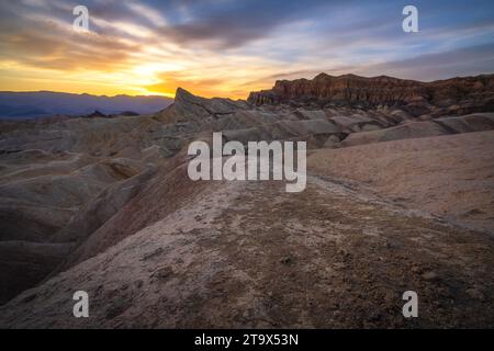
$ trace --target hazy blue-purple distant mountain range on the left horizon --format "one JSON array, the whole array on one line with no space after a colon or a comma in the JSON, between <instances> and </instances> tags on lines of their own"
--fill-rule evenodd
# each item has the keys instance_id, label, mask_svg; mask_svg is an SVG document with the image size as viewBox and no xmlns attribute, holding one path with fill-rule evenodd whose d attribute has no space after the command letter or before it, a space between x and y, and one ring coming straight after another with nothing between
<instances>
[{"instance_id":1,"label":"hazy blue-purple distant mountain range on the left horizon","mask_svg":"<svg viewBox=\"0 0 494 351\"><path fill-rule=\"evenodd\" d=\"M53 115L88 115L134 112L154 113L173 102L165 97L97 97L52 91L0 92L0 118L35 118Z\"/></svg>"}]
</instances>

